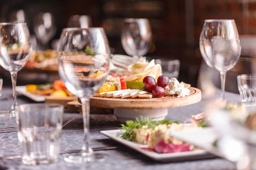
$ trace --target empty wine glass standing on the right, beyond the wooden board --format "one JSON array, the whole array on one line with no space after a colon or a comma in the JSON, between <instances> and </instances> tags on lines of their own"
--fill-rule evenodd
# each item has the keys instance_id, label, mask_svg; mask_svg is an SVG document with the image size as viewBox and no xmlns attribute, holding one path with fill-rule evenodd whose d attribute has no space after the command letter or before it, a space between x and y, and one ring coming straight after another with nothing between
<instances>
[{"instance_id":1,"label":"empty wine glass standing on the right, beyond the wooden board","mask_svg":"<svg viewBox=\"0 0 256 170\"><path fill-rule=\"evenodd\" d=\"M224 100L226 72L232 69L241 54L234 20L205 20L200 35L200 51L210 67L220 72L221 100Z\"/></svg>"}]
</instances>

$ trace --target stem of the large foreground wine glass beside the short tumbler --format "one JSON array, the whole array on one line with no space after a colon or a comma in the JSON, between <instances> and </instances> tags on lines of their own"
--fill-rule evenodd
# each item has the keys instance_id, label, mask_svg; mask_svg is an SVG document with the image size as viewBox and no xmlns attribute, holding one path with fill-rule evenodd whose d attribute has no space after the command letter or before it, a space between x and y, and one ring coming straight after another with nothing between
<instances>
[{"instance_id":1,"label":"stem of the large foreground wine glass beside the short tumbler","mask_svg":"<svg viewBox=\"0 0 256 170\"><path fill-rule=\"evenodd\" d=\"M82 156L87 156L91 153L91 148L89 146L89 136L90 136L90 98L82 97L82 113L83 113L83 122L84 122L84 144L82 147Z\"/></svg>"}]
</instances>

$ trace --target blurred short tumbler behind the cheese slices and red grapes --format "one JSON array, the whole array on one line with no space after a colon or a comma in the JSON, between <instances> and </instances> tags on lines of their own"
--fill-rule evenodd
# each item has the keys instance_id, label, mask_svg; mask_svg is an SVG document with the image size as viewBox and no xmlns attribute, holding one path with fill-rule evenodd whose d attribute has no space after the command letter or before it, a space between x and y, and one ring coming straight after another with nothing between
<instances>
[{"instance_id":1,"label":"blurred short tumbler behind the cheese slices and red grapes","mask_svg":"<svg viewBox=\"0 0 256 170\"><path fill-rule=\"evenodd\" d=\"M169 79L178 79L180 72L180 60L177 59L156 59L155 64L160 64L162 67L162 73L168 76Z\"/></svg>"}]
</instances>

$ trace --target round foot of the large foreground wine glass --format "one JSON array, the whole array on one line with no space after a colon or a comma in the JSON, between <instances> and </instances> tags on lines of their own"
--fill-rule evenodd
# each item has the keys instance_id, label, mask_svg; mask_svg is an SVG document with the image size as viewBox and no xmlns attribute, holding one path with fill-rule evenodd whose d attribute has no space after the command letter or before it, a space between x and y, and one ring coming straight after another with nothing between
<instances>
[{"instance_id":1,"label":"round foot of the large foreground wine glass","mask_svg":"<svg viewBox=\"0 0 256 170\"><path fill-rule=\"evenodd\" d=\"M92 163L92 162L103 162L108 158L105 153L91 153L86 156L82 156L81 153L69 155L64 157L64 160L69 163Z\"/></svg>"}]
</instances>

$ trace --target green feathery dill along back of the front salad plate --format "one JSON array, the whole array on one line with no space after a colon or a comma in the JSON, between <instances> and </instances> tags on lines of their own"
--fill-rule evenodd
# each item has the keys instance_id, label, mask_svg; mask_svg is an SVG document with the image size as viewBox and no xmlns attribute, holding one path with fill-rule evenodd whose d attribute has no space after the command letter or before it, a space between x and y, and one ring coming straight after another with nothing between
<instances>
[{"instance_id":1,"label":"green feathery dill along back of the front salad plate","mask_svg":"<svg viewBox=\"0 0 256 170\"><path fill-rule=\"evenodd\" d=\"M179 124L178 121L175 122L171 122L170 120L159 120L159 121L153 121L151 118L149 117L141 117L140 119L136 118L136 122L132 121L132 120L128 120L126 121L126 125L124 124L120 124L122 127L120 129L125 130L121 133L121 138L129 140L129 141L133 141L133 139L135 138L135 134L133 133L134 129L139 129L142 128L142 126L147 126L147 128L149 129L154 129L155 126L157 125L162 125L162 124L172 124L172 123L177 123Z\"/></svg>"}]
</instances>

